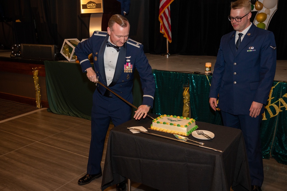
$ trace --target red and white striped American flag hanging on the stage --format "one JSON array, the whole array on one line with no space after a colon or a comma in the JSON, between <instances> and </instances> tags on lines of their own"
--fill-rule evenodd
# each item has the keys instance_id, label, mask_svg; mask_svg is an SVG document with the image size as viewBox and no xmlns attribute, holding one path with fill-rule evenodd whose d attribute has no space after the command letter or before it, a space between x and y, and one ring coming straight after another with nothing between
<instances>
[{"instance_id":1,"label":"red and white striped American flag hanging on the stage","mask_svg":"<svg viewBox=\"0 0 287 191\"><path fill-rule=\"evenodd\" d=\"M160 32L165 38L172 42L172 30L170 25L170 4L174 0L160 0L159 1L159 22L160 22Z\"/></svg>"}]
</instances>

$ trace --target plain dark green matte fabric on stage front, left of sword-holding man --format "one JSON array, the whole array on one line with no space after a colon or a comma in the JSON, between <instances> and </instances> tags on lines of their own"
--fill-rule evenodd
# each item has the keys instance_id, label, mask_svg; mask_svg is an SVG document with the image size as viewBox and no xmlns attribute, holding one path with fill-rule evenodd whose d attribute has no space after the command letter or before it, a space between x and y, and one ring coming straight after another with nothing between
<instances>
[{"instance_id":1,"label":"plain dark green matte fabric on stage front, left of sword-holding man","mask_svg":"<svg viewBox=\"0 0 287 191\"><path fill-rule=\"evenodd\" d=\"M91 83L80 64L44 61L49 108L53 113L91 119Z\"/></svg>"}]
</instances>

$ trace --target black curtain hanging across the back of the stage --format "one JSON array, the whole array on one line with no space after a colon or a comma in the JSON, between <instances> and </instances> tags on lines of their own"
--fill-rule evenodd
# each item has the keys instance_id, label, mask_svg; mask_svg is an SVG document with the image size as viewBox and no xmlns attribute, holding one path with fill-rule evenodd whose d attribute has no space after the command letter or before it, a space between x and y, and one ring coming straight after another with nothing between
<instances>
[{"instance_id":1,"label":"black curtain hanging across the back of the stage","mask_svg":"<svg viewBox=\"0 0 287 191\"><path fill-rule=\"evenodd\" d=\"M221 36L233 30L227 19L230 2L173 1L170 5L172 43L169 44L169 53L216 56ZM286 9L287 1L280 0L268 27L275 35L279 60L287 59ZM65 38L82 40L89 37L90 14L80 14L80 1L4 0L0 3L0 11L3 22L20 19L22 25L30 26L14 27L11 45L31 43L61 46ZM252 13L254 18L256 12ZM131 24L130 37L142 43L146 53L166 52L166 38L159 32L158 14L159 0L131 0L130 13L126 16ZM1 31L10 30L3 28ZM5 42L0 40L1 44L9 45L7 39Z\"/></svg>"}]
</instances>

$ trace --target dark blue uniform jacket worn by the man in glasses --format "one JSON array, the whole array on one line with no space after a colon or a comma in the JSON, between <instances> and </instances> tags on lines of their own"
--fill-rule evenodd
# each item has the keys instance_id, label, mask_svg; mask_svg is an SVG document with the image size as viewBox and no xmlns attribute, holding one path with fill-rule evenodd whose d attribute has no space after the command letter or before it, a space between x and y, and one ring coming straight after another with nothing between
<instances>
[{"instance_id":1,"label":"dark blue uniform jacket worn by the man in glasses","mask_svg":"<svg viewBox=\"0 0 287 191\"><path fill-rule=\"evenodd\" d=\"M235 33L221 38L209 97L233 115L249 115L253 101L266 104L276 71L276 44L268 30L250 27L238 50Z\"/></svg>"}]
</instances>

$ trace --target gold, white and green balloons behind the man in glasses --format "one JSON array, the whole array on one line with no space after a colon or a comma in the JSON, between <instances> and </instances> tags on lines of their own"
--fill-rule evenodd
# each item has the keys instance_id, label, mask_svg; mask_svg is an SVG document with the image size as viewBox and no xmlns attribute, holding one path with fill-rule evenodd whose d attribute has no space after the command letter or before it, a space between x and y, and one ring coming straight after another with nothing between
<instances>
[{"instance_id":1,"label":"gold, white and green balloons behind the man in glasses","mask_svg":"<svg viewBox=\"0 0 287 191\"><path fill-rule=\"evenodd\" d=\"M253 23L267 29L269 22L278 8L279 0L251 0L251 11L258 11Z\"/></svg>"}]
</instances>

